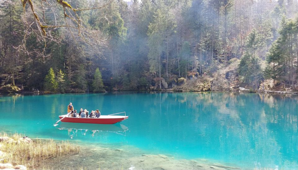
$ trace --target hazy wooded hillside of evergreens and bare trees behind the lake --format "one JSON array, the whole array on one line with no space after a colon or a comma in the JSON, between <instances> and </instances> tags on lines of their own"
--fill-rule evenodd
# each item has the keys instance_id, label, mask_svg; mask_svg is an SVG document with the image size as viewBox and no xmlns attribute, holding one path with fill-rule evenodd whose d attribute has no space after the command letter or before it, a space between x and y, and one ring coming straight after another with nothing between
<instances>
[{"instance_id":1,"label":"hazy wooded hillside of evergreens and bare trees behind the lake","mask_svg":"<svg viewBox=\"0 0 298 170\"><path fill-rule=\"evenodd\" d=\"M1 0L0 92L297 91L298 0Z\"/></svg>"}]
</instances>

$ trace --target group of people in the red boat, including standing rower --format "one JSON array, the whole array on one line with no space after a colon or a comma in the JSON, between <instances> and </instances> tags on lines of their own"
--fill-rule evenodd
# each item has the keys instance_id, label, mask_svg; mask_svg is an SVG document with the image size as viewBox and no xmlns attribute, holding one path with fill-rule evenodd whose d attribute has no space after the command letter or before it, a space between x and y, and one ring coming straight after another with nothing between
<instances>
[{"instance_id":1,"label":"group of people in the red boat, including standing rower","mask_svg":"<svg viewBox=\"0 0 298 170\"><path fill-rule=\"evenodd\" d=\"M67 106L67 113L69 114L69 117L72 118L99 118L100 117L100 111L97 109L95 111L91 111L91 113L89 114L89 111L87 111L86 109L83 110L81 108L80 112L77 113L77 110L74 110L74 106L72 105L72 103L70 103Z\"/></svg>"}]
</instances>

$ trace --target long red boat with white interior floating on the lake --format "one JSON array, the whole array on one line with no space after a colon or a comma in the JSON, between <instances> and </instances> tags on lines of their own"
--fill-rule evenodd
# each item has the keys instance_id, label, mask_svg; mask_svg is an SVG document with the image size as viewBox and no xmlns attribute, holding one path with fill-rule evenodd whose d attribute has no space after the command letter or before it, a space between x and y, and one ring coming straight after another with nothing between
<instances>
[{"instance_id":1,"label":"long red boat with white interior floating on the lake","mask_svg":"<svg viewBox=\"0 0 298 170\"><path fill-rule=\"evenodd\" d=\"M99 118L72 118L67 117L65 115L60 115L59 118L61 119L61 122L70 122L70 123L93 123L93 124L115 124L118 122L121 122L122 120L128 119L128 116L126 116L125 112L124 116L116 116L114 114L109 115L101 115ZM120 114L120 113L115 113Z\"/></svg>"}]
</instances>

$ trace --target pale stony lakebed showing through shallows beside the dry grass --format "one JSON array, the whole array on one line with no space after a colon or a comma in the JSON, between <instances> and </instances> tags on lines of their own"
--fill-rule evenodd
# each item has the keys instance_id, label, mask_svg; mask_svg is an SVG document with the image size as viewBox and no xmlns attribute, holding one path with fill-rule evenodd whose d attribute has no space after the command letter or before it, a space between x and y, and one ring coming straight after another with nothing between
<instances>
[{"instance_id":1,"label":"pale stony lakebed showing through shallows beside the dry grass","mask_svg":"<svg viewBox=\"0 0 298 170\"><path fill-rule=\"evenodd\" d=\"M144 154L142 150L131 146L123 146L119 148L100 148L94 146L81 147L79 157L92 157L78 159L76 155L68 155L61 159L47 159L41 161L41 167L52 167L59 169L61 167L73 169L73 167L83 167L86 169L175 169L175 170L226 170L226 168L219 167L222 165L212 164L209 161L198 162L196 160L174 159L172 155L164 154ZM121 152L119 151L121 150ZM90 155L92 153L92 155ZM202 159L203 160L203 159ZM71 162L71 167L69 162ZM211 162L210 162L211 163ZM212 168L210 168L210 166Z\"/></svg>"}]
</instances>

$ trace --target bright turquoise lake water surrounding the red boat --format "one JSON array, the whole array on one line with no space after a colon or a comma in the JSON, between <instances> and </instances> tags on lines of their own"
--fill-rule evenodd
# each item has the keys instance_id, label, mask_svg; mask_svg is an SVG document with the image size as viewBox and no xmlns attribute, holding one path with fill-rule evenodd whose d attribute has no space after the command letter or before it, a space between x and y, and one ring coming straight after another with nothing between
<instances>
[{"instance_id":1,"label":"bright turquoise lake water surrounding the red boat","mask_svg":"<svg viewBox=\"0 0 298 170\"><path fill-rule=\"evenodd\" d=\"M129 119L106 126L54 127L70 101L76 110L126 111ZM242 168L297 169L297 102L295 95L219 92L0 96L0 131L84 145L132 145L147 154L210 159Z\"/></svg>"}]
</instances>

